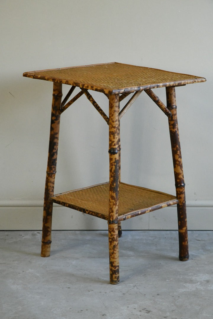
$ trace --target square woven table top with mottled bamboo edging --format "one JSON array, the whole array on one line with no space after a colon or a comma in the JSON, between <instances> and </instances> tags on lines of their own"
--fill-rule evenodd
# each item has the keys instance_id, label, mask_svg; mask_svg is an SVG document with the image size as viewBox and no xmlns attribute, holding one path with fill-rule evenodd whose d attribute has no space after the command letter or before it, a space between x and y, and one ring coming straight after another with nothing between
<instances>
[{"instance_id":1,"label":"square woven table top with mottled bamboo edging","mask_svg":"<svg viewBox=\"0 0 213 319\"><path fill-rule=\"evenodd\" d=\"M145 89L205 82L206 79L124 63L93 64L25 72L24 77L61 82L80 88L116 94Z\"/></svg>"}]
</instances>

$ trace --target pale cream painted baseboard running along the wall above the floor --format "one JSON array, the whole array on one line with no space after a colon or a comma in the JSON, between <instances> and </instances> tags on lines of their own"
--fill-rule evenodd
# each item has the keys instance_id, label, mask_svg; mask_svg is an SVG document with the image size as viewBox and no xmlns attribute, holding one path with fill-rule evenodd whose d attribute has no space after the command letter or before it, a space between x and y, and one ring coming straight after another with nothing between
<instances>
[{"instance_id":1,"label":"pale cream painted baseboard running along the wall above the floor","mask_svg":"<svg viewBox=\"0 0 213 319\"><path fill-rule=\"evenodd\" d=\"M187 221L189 230L213 230L213 200L188 201ZM0 201L0 230L39 230L42 228L40 200ZM122 222L123 229L172 230L178 228L176 206ZM105 220L54 204L52 229L100 230L108 229Z\"/></svg>"}]
</instances>

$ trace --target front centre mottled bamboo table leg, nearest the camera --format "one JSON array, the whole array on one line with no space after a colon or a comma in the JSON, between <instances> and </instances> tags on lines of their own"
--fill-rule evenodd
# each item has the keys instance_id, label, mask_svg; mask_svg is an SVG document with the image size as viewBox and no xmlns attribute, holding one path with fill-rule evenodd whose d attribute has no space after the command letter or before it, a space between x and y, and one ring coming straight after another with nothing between
<instances>
[{"instance_id":1,"label":"front centre mottled bamboo table leg, nearest the camera","mask_svg":"<svg viewBox=\"0 0 213 319\"><path fill-rule=\"evenodd\" d=\"M110 157L110 192L109 192L109 257L110 283L119 282L118 253L118 188L119 188L119 95L109 96L109 157Z\"/></svg>"}]
</instances>

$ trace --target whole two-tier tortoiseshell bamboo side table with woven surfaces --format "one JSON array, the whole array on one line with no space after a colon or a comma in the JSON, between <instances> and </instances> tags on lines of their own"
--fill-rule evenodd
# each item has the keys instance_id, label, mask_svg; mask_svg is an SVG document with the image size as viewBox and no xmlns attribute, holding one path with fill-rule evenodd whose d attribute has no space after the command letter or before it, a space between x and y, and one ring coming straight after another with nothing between
<instances>
[{"instance_id":1,"label":"whole two-tier tortoiseshell bamboo side table with woven surfaces","mask_svg":"<svg viewBox=\"0 0 213 319\"><path fill-rule=\"evenodd\" d=\"M25 72L23 76L53 82L41 256L50 256L53 203L105 219L108 221L109 229L110 283L117 284L119 282L118 236L122 234L120 222L177 204L179 259L181 261L188 260L185 183L176 113L175 86L205 82L205 78L122 63L32 71ZM62 84L72 85L63 101ZM79 93L69 100L76 87L80 88ZM166 106L151 90L160 87L166 88ZM103 112L88 90L98 91L107 96L109 116ZM142 91L148 94L169 120L176 196L125 184L119 178L120 119ZM133 93L132 97L120 110L120 102L131 93ZM83 94L109 125L109 182L54 195L60 115Z\"/></svg>"}]
</instances>

